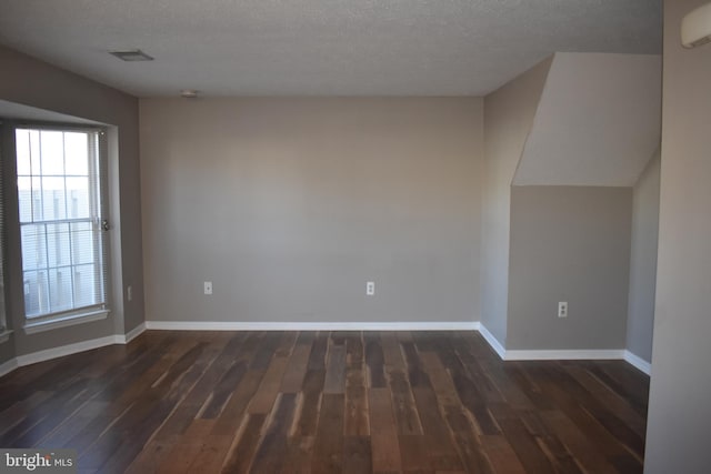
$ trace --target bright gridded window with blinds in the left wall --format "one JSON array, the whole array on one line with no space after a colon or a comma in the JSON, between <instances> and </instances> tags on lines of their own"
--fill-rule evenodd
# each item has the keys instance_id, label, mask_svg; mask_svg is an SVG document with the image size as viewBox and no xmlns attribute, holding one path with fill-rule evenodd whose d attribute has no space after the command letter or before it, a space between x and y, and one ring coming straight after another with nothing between
<instances>
[{"instance_id":1,"label":"bright gridded window with blinds in the left wall","mask_svg":"<svg viewBox=\"0 0 711 474\"><path fill-rule=\"evenodd\" d=\"M17 128L14 134L28 322L107 312L103 132Z\"/></svg>"}]
</instances>

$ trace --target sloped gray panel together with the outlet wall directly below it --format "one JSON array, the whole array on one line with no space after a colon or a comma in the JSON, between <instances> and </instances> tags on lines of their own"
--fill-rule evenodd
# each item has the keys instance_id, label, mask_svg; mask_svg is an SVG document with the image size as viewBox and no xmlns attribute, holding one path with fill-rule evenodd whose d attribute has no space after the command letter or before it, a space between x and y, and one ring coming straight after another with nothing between
<instances>
[{"instance_id":1,"label":"sloped gray panel together with the outlet wall directly below it","mask_svg":"<svg viewBox=\"0 0 711 474\"><path fill-rule=\"evenodd\" d=\"M632 186L660 103L657 56L554 56L513 179L507 350L627 347Z\"/></svg>"}]
</instances>

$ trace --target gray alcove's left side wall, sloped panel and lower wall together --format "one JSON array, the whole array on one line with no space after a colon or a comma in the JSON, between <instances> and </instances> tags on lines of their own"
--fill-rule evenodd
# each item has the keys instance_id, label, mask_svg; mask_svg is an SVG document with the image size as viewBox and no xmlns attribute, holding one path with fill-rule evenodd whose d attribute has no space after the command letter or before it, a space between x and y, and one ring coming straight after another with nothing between
<instances>
[{"instance_id":1,"label":"gray alcove's left side wall, sloped panel and lower wall together","mask_svg":"<svg viewBox=\"0 0 711 474\"><path fill-rule=\"evenodd\" d=\"M660 57L557 53L484 103L483 326L507 351L621 353Z\"/></svg>"}]
</instances>

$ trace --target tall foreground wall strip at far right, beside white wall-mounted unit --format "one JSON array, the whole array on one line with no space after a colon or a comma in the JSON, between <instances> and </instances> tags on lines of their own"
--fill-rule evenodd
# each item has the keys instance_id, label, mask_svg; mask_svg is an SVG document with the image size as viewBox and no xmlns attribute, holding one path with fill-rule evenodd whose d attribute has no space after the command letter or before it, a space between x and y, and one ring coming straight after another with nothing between
<instances>
[{"instance_id":1,"label":"tall foreground wall strip at far right, beside white wall-mounted unit","mask_svg":"<svg viewBox=\"0 0 711 474\"><path fill-rule=\"evenodd\" d=\"M664 1L659 264L648 474L711 465L711 46L684 50L680 22L707 0Z\"/></svg>"}]
</instances>

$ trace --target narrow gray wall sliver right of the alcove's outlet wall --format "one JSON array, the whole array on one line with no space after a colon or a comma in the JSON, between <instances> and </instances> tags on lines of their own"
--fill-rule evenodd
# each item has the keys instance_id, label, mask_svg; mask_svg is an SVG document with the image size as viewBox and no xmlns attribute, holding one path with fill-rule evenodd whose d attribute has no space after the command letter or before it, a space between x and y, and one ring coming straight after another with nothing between
<instances>
[{"instance_id":1,"label":"narrow gray wall sliver right of the alcove's outlet wall","mask_svg":"<svg viewBox=\"0 0 711 474\"><path fill-rule=\"evenodd\" d=\"M657 242L659 238L659 151L634 185L632 198L632 253L627 319L627 350L652 360Z\"/></svg>"}]
</instances>

